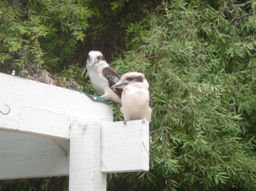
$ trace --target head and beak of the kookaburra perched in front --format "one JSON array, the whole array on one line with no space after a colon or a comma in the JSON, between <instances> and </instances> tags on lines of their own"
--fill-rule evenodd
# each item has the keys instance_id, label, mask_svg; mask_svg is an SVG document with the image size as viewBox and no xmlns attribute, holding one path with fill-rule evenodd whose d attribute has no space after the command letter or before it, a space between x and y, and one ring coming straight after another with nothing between
<instances>
[{"instance_id":1,"label":"head and beak of the kookaburra perched in front","mask_svg":"<svg viewBox=\"0 0 256 191\"><path fill-rule=\"evenodd\" d=\"M125 73L120 78L119 82L115 83L112 87L113 88L124 88L125 86L136 86L139 88L147 88L149 84L142 73L137 72L130 72Z\"/></svg>"}]
</instances>

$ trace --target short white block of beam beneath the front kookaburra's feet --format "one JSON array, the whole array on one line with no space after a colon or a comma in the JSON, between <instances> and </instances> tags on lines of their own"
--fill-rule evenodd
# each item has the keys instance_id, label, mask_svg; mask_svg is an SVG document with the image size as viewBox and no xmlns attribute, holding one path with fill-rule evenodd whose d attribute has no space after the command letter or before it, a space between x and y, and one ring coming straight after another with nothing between
<instances>
[{"instance_id":1,"label":"short white block of beam beneath the front kookaburra's feet","mask_svg":"<svg viewBox=\"0 0 256 191\"><path fill-rule=\"evenodd\" d=\"M101 172L137 172L149 168L149 127L142 120L106 122L101 128Z\"/></svg>"}]
</instances>

